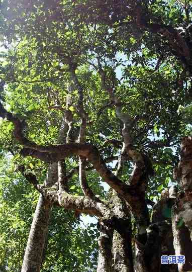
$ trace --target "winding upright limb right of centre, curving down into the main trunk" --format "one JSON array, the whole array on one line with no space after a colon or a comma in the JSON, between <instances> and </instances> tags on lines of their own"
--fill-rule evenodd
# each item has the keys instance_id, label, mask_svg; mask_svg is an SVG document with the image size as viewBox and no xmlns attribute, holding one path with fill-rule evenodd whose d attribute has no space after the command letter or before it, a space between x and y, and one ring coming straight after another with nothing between
<instances>
[{"instance_id":1,"label":"winding upright limb right of centre, curving down into the main trunk","mask_svg":"<svg viewBox=\"0 0 192 272\"><path fill-rule=\"evenodd\" d=\"M101 75L102 87L110 96L111 102L116 106L116 115L123 123L123 149L122 156L120 156L119 169L123 163L124 152L133 160L134 169L129 179L129 185L135 187L134 201L127 201L132 209L134 217L137 222L139 232L145 232L149 226L149 213L147 205L145 204L145 191L149 175L153 173L152 164L150 160L141 152L134 148L134 141L132 139L132 129L139 119L144 116L135 116L132 118L128 112L123 112L123 105L121 100L116 96L115 85L112 82L116 80L115 77L110 77L102 68L100 57L98 56L98 70ZM122 160L122 163L121 163ZM114 188L113 188L114 189ZM116 191L117 192L117 191ZM120 193L120 192L118 192Z\"/></svg>"}]
</instances>

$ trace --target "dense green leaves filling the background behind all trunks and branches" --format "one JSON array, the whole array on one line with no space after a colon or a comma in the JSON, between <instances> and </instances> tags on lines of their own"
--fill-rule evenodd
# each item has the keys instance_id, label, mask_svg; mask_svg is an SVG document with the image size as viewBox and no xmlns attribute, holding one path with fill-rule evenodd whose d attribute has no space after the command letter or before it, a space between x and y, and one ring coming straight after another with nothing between
<instances>
[{"instance_id":1,"label":"dense green leaves filling the background behind all trunks and branches","mask_svg":"<svg viewBox=\"0 0 192 272\"><path fill-rule=\"evenodd\" d=\"M58 143L63 116L70 112L66 142L73 143L82 126L80 89L88 116L84 142L96 146L104 161L115 157L107 161L113 173L123 154L118 174L129 185L135 160L128 151L121 154L126 123L131 148L153 164L144 194L156 202L175 183L180 139L191 134L192 56L179 44L184 39L191 50L191 9L182 0L1 0L1 103L21 121L25 137L41 146ZM25 143L16 134L9 118L1 120L1 271L20 271L22 265L39 195L25 174L33 173L42 185L48 166L38 156L24 157ZM77 154L65 163L69 173L78 166ZM89 188L107 201L105 178L85 164ZM68 192L83 196L77 172ZM132 225L135 235L135 219ZM93 224L81 229L73 212L53 207L42 271L93 271L97 236Z\"/></svg>"}]
</instances>

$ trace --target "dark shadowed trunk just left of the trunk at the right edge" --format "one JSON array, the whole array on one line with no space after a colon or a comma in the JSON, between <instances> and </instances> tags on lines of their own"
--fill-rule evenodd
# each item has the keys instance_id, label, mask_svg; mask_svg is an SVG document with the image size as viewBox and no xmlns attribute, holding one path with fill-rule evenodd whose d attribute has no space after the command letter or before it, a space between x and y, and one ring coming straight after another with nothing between
<instances>
[{"instance_id":1,"label":"dark shadowed trunk just left of the trunk at the right edge","mask_svg":"<svg viewBox=\"0 0 192 272\"><path fill-rule=\"evenodd\" d=\"M166 189L153 206L151 225L147 233L138 234L135 240L135 272L176 272L175 264L161 264L161 255L174 255L171 225L171 207L174 204L174 188Z\"/></svg>"}]
</instances>

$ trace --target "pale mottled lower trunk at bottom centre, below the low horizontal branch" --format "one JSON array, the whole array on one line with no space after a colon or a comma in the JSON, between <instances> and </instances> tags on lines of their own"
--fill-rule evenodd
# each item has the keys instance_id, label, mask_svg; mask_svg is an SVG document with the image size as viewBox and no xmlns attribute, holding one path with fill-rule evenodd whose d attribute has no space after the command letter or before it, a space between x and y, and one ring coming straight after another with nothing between
<instances>
[{"instance_id":1,"label":"pale mottled lower trunk at bottom centre, below the low horizontal branch","mask_svg":"<svg viewBox=\"0 0 192 272\"><path fill-rule=\"evenodd\" d=\"M99 220L98 272L133 272L131 215L125 201L114 191L109 193L109 219Z\"/></svg>"}]
</instances>

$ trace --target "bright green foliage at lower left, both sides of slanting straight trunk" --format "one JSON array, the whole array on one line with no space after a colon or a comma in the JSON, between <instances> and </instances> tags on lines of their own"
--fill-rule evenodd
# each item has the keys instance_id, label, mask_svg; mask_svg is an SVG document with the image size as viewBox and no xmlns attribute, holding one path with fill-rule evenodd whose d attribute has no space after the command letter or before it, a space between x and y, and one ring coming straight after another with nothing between
<instances>
[{"instance_id":1,"label":"bright green foliage at lower left, both sides of slanting straight trunk","mask_svg":"<svg viewBox=\"0 0 192 272\"><path fill-rule=\"evenodd\" d=\"M1 163L0 270L21 271L38 193L11 163ZM81 224L80 224L81 223ZM82 239L83 237L83 239ZM87 271L97 262L97 233L94 224L83 224L73 213L54 207L49 226L42 271ZM53 264L53 260L55 263Z\"/></svg>"}]
</instances>

